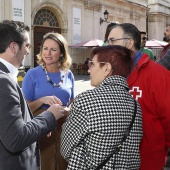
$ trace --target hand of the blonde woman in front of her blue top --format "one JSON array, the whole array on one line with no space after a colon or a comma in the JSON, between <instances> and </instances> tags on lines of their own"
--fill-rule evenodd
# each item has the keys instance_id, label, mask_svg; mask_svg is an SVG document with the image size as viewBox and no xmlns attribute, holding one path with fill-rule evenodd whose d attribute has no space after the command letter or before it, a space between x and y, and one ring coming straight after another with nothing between
<instances>
[{"instance_id":1,"label":"hand of the blonde woman in front of her blue top","mask_svg":"<svg viewBox=\"0 0 170 170\"><path fill-rule=\"evenodd\" d=\"M53 104L62 105L62 102L56 96L45 96L41 98L42 103L52 106Z\"/></svg>"}]
</instances>

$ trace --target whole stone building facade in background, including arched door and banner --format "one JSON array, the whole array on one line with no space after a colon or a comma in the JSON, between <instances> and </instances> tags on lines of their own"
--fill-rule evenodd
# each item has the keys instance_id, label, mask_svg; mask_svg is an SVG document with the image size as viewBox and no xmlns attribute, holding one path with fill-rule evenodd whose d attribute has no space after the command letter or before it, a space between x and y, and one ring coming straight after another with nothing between
<instances>
[{"instance_id":1,"label":"whole stone building facade in background, including arched door and banner","mask_svg":"<svg viewBox=\"0 0 170 170\"><path fill-rule=\"evenodd\" d=\"M0 0L0 20L13 19L13 1ZM16 2L17 0L15 0ZM18 0L21 1L21 0ZM130 22L147 31L149 39L162 40L170 24L169 0L22 0L24 22L30 26L32 51L25 59L26 67L36 66L36 55L45 33L61 33L69 45L90 39L104 39L108 22ZM100 24L104 11L108 22ZM91 48L69 47L73 62L83 63Z\"/></svg>"}]
</instances>

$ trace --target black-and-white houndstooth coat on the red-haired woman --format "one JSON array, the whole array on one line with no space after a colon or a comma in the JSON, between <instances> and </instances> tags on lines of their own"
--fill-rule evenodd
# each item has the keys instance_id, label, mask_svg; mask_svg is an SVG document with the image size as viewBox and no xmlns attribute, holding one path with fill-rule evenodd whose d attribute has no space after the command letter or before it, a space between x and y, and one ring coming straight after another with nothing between
<instances>
[{"instance_id":1,"label":"black-and-white houndstooth coat on the red-haired woman","mask_svg":"<svg viewBox=\"0 0 170 170\"><path fill-rule=\"evenodd\" d=\"M106 78L99 87L78 95L63 125L61 154L68 170L93 170L119 144L134 114L134 100L126 79ZM137 105L136 118L115 160L116 170L140 167L139 145L142 138L142 113ZM114 157L103 167L113 170Z\"/></svg>"}]
</instances>

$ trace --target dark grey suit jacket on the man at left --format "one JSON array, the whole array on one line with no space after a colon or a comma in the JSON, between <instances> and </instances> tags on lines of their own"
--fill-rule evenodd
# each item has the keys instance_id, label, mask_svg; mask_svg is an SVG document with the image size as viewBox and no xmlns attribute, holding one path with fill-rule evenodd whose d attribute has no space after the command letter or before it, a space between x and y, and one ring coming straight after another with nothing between
<instances>
[{"instance_id":1,"label":"dark grey suit jacket on the man at left","mask_svg":"<svg viewBox=\"0 0 170 170\"><path fill-rule=\"evenodd\" d=\"M19 85L0 62L0 170L40 169L36 141L55 127L51 112L33 119Z\"/></svg>"}]
</instances>

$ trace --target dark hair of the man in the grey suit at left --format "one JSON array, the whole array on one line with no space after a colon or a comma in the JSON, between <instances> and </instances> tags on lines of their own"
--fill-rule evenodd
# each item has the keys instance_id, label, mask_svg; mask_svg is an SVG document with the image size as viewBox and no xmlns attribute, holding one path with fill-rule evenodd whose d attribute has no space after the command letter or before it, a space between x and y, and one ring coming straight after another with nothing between
<instances>
[{"instance_id":1,"label":"dark hair of the man in the grey suit at left","mask_svg":"<svg viewBox=\"0 0 170 170\"><path fill-rule=\"evenodd\" d=\"M12 42L16 42L19 48L25 40L25 32L30 28L20 21L4 20L0 22L0 53L4 53Z\"/></svg>"}]
</instances>

